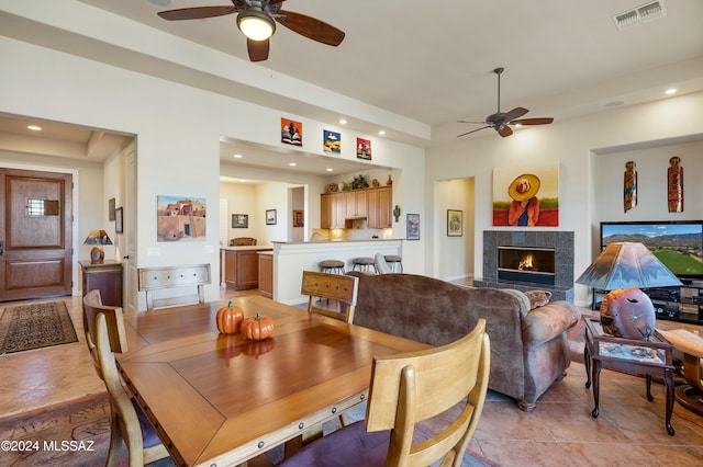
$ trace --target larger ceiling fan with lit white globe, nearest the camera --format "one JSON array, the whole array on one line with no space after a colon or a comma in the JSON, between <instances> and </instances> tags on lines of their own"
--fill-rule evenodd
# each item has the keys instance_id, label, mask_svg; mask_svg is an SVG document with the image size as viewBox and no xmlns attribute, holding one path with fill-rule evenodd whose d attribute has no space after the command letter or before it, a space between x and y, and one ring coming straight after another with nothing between
<instances>
[{"instance_id":1,"label":"larger ceiling fan with lit white globe, nearest the camera","mask_svg":"<svg viewBox=\"0 0 703 467\"><path fill-rule=\"evenodd\" d=\"M286 0L232 0L233 7L192 7L158 13L164 20L201 20L205 18L237 14L237 26L246 36L247 50L252 61L268 58L269 37L276 32L276 23L323 44L337 46L344 39L344 32L336 27L292 11L281 10Z\"/></svg>"}]
</instances>

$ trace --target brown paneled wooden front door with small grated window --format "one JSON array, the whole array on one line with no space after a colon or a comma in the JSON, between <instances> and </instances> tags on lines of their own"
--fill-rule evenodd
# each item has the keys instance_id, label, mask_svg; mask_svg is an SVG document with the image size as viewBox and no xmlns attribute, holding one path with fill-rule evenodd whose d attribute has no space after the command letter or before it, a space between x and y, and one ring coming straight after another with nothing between
<instances>
[{"instance_id":1,"label":"brown paneled wooden front door with small grated window","mask_svg":"<svg viewBox=\"0 0 703 467\"><path fill-rule=\"evenodd\" d=\"M72 176L0 168L0 301L70 295Z\"/></svg>"}]
</instances>

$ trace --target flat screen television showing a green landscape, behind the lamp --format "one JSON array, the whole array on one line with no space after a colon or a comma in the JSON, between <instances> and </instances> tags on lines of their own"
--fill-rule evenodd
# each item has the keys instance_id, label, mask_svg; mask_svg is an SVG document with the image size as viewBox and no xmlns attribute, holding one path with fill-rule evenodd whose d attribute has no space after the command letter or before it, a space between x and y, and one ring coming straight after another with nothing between
<instances>
[{"instance_id":1,"label":"flat screen television showing a green landscape, behind the lamp","mask_svg":"<svg viewBox=\"0 0 703 467\"><path fill-rule=\"evenodd\" d=\"M613 242L644 243L679 278L703 278L703 220L601 223L601 251Z\"/></svg>"}]
</instances>

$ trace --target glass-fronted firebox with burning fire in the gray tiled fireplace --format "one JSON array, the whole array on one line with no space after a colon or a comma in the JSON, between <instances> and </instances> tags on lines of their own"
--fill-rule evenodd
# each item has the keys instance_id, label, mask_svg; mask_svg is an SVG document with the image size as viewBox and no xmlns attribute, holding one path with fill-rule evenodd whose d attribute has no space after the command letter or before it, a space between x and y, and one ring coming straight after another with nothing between
<instances>
[{"instance_id":1,"label":"glass-fronted firebox with burning fire in the gray tiled fireplace","mask_svg":"<svg viewBox=\"0 0 703 467\"><path fill-rule=\"evenodd\" d=\"M554 285L554 248L498 247L498 278Z\"/></svg>"}]
</instances>

